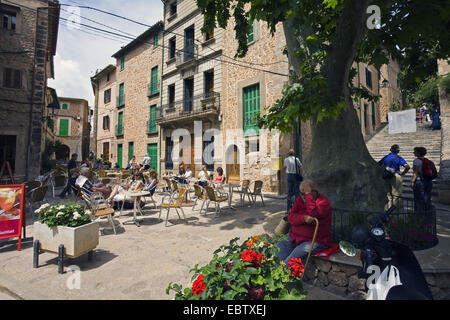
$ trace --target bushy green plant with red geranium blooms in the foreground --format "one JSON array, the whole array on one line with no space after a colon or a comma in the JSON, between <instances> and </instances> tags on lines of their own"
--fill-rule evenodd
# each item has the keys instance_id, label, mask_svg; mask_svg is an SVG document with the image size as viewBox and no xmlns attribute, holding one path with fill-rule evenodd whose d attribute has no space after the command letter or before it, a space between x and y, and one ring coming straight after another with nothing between
<instances>
[{"instance_id":1,"label":"bushy green plant with red geranium blooms in the foreground","mask_svg":"<svg viewBox=\"0 0 450 320\"><path fill-rule=\"evenodd\" d=\"M303 299L301 276L304 266L292 258L286 268L277 256L280 237L253 236L242 244L234 238L222 245L212 260L191 271L193 284L183 290L170 283L166 293L175 291L175 300L291 300Z\"/></svg>"}]
</instances>

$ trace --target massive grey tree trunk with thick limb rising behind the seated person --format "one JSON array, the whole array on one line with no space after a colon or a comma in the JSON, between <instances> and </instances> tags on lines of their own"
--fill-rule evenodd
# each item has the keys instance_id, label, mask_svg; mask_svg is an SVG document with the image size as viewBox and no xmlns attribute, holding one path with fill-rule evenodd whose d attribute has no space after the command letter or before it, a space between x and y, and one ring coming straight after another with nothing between
<instances>
[{"instance_id":1,"label":"massive grey tree trunk with thick limb rising behind the seated person","mask_svg":"<svg viewBox=\"0 0 450 320\"><path fill-rule=\"evenodd\" d=\"M382 209L386 197L381 169L367 150L348 90L349 72L367 31L366 9L371 2L347 0L345 3L322 73L334 102L344 100L348 107L335 120L312 121L311 150L303 165L306 178L312 179L338 208ZM293 20L284 23L288 54L299 46L293 23ZM300 62L292 57L290 61L296 67Z\"/></svg>"}]
</instances>

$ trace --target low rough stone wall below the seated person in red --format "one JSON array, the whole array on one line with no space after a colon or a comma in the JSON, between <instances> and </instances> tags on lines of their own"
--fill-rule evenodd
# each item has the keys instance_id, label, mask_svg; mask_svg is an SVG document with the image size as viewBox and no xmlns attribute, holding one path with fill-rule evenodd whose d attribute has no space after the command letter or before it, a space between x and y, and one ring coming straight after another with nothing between
<instances>
[{"instance_id":1,"label":"low rough stone wall below the seated person in red","mask_svg":"<svg viewBox=\"0 0 450 320\"><path fill-rule=\"evenodd\" d=\"M357 275L360 266L356 258L345 260L354 262L342 263L322 257L311 257L303 279L306 283L344 298L365 300L367 297L365 280L359 279ZM449 272L426 272L425 280L434 300L450 299Z\"/></svg>"}]
</instances>

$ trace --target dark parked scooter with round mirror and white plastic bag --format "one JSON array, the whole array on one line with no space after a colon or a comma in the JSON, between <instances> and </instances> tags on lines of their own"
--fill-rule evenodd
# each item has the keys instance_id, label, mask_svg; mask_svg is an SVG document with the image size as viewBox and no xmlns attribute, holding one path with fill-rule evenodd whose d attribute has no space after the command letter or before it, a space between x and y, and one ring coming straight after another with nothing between
<instances>
[{"instance_id":1,"label":"dark parked scooter with round mirror and white plastic bag","mask_svg":"<svg viewBox=\"0 0 450 320\"><path fill-rule=\"evenodd\" d=\"M385 225L396 209L390 207L378 217L369 219L370 228L356 226L352 243L340 241L347 256L360 251L360 279L366 279L367 300L433 300L422 268L407 246L386 238Z\"/></svg>"}]
</instances>

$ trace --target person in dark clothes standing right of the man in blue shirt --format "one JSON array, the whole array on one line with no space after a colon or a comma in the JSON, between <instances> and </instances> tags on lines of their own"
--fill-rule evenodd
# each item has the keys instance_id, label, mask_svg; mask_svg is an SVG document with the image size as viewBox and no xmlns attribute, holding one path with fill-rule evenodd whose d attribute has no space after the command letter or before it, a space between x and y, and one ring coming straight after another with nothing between
<instances>
[{"instance_id":1,"label":"person in dark clothes standing right of the man in blue shirt","mask_svg":"<svg viewBox=\"0 0 450 320\"><path fill-rule=\"evenodd\" d=\"M433 181L424 178L423 162L427 149L424 147L415 147L413 161L413 177L411 179L411 188L414 192L414 211L426 211L431 208L431 190Z\"/></svg>"}]
</instances>

